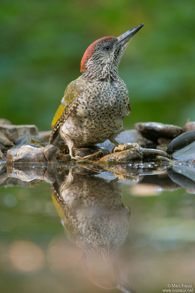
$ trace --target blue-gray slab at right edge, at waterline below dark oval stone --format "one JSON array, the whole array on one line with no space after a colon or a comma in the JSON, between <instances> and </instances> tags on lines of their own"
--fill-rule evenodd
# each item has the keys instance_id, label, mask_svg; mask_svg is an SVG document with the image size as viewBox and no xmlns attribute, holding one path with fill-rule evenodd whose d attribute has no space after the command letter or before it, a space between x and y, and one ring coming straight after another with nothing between
<instances>
[{"instance_id":1,"label":"blue-gray slab at right edge, at waterline below dark oval stone","mask_svg":"<svg viewBox=\"0 0 195 293\"><path fill-rule=\"evenodd\" d=\"M183 162L191 162L195 160L195 142L175 151L175 153L171 155L171 159Z\"/></svg>"}]
</instances>

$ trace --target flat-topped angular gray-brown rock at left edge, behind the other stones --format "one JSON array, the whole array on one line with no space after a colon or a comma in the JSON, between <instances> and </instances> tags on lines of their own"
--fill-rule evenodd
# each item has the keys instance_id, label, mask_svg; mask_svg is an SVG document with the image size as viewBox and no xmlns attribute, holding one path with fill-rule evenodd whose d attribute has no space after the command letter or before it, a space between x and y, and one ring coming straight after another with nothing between
<instances>
[{"instance_id":1,"label":"flat-topped angular gray-brown rock at left edge, behind the other stones","mask_svg":"<svg viewBox=\"0 0 195 293\"><path fill-rule=\"evenodd\" d=\"M0 131L16 144L16 139L23 135L38 135L35 125L0 125Z\"/></svg>"}]
</instances>

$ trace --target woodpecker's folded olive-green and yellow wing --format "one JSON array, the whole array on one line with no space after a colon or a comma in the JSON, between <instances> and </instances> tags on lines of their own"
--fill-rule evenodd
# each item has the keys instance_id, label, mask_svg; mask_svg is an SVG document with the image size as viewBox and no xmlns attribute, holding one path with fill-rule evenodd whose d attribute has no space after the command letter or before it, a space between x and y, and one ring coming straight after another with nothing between
<instances>
[{"instance_id":1,"label":"woodpecker's folded olive-green and yellow wing","mask_svg":"<svg viewBox=\"0 0 195 293\"><path fill-rule=\"evenodd\" d=\"M49 139L50 143L52 143L54 140L54 136L59 127L63 124L65 119L67 119L70 113L77 107L77 98L86 88L87 82L82 79L82 76L80 76L76 80L72 81L65 89L62 103L58 107L58 110L56 111L54 119L51 123L52 132Z\"/></svg>"}]
</instances>

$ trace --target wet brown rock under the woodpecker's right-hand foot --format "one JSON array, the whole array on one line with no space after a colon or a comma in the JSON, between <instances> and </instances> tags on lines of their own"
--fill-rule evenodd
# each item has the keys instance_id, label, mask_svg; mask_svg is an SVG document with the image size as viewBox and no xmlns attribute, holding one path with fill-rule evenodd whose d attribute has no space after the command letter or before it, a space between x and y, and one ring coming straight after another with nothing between
<instances>
[{"instance_id":1,"label":"wet brown rock under the woodpecker's right-hand foot","mask_svg":"<svg viewBox=\"0 0 195 293\"><path fill-rule=\"evenodd\" d=\"M125 151L117 151L101 158L98 163L128 163L131 161L141 161L143 154L136 148L127 149Z\"/></svg>"}]
</instances>

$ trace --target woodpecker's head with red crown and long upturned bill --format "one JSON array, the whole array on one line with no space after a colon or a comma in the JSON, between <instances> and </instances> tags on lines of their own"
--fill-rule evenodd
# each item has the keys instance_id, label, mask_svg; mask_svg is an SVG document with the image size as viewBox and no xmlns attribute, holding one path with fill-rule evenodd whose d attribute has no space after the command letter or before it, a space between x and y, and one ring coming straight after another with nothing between
<instances>
[{"instance_id":1,"label":"woodpecker's head with red crown and long upturned bill","mask_svg":"<svg viewBox=\"0 0 195 293\"><path fill-rule=\"evenodd\" d=\"M144 24L138 25L118 38L103 37L93 42L81 60L81 72L91 79L115 79L118 65L130 39Z\"/></svg>"}]
</instances>

